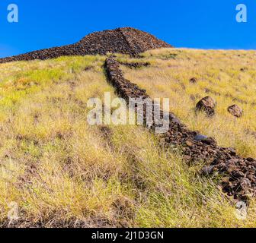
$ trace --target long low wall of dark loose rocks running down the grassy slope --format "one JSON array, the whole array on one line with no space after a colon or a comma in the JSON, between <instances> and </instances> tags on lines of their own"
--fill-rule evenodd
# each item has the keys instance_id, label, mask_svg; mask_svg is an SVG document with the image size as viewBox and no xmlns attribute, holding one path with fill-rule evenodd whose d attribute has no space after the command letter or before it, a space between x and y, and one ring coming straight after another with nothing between
<instances>
[{"instance_id":1,"label":"long low wall of dark loose rocks running down the grassy slope","mask_svg":"<svg viewBox=\"0 0 256 243\"><path fill-rule=\"evenodd\" d=\"M117 94L129 100L129 97L149 99L146 90L141 90L123 77L119 64L114 58L105 62L107 79ZM256 195L256 160L244 159L232 148L219 147L211 137L190 131L172 113L169 114L169 131L162 135L165 147L181 149L188 163L202 161L206 166L203 175L222 175L220 185L229 196L238 200L248 200ZM152 125L154 128L154 125Z\"/></svg>"}]
</instances>

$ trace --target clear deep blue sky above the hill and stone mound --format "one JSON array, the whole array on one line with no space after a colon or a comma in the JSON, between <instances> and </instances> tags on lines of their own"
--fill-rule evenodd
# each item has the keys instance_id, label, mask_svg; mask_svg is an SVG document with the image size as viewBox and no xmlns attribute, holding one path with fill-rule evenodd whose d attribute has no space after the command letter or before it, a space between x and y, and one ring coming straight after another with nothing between
<instances>
[{"instance_id":1,"label":"clear deep blue sky above the hill and stone mound","mask_svg":"<svg viewBox=\"0 0 256 243\"><path fill-rule=\"evenodd\" d=\"M7 21L11 3L19 7L18 24ZM235 21L239 3L248 7L248 23ZM256 0L1 0L0 57L128 26L176 47L256 49Z\"/></svg>"}]
</instances>

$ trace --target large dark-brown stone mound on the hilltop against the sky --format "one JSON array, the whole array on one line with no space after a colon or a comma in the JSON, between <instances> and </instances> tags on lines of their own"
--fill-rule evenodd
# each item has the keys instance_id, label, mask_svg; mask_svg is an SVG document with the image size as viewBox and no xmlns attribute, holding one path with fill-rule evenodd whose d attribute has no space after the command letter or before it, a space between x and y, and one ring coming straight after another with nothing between
<instances>
[{"instance_id":1,"label":"large dark-brown stone mound on the hilltop against the sky","mask_svg":"<svg viewBox=\"0 0 256 243\"><path fill-rule=\"evenodd\" d=\"M45 60L57 58L62 55L105 55L107 52L138 55L149 49L165 47L172 46L149 33L126 27L91 33L78 43L69 46L53 47L8 58L1 58L0 63L34 59Z\"/></svg>"}]
</instances>

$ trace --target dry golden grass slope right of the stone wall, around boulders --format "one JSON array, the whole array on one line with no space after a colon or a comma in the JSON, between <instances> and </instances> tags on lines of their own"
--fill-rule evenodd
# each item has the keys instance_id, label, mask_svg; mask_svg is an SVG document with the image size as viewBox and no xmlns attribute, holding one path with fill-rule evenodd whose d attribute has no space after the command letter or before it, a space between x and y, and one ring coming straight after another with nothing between
<instances>
[{"instance_id":1,"label":"dry golden grass slope right of the stone wall, around boulders","mask_svg":"<svg viewBox=\"0 0 256 243\"><path fill-rule=\"evenodd\" d=\"M123 56L120 59L127 61ZM215 137L221 146L235 147L242 156L256 157L255 51L160 49L146 52L139 61L152 66L123 67L128 79L152 98L169 98L171 112L190 129ZM190 84L192 77L197 84ZM197 102L205 96L218 103L214 118L195 114ZM244 110L242 118L227 111L233 104Z\"/></svg>"}]
</instances>

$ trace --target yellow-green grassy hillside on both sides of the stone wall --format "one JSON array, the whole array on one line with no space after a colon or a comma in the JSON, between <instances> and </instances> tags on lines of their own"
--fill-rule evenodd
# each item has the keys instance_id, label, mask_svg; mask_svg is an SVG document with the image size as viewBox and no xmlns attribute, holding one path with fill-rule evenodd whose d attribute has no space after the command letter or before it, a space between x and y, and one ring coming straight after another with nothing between
<instances>
[{"instance_id":1,"label":"yellow-green grassy hillside on both sides of the stone wall","mask_svg":"<svg viewBox=\"0 0 256 243\"><path fill-rule=\"evenodd\" d=\"M253 156L254 140L244 133L245 124L251 130L254 125L250 106L235 120L226 114L229 100L214 96L218 115L210 120L195 117L190 100L190 94L205 95L210 80L212 89L232 92L232 80L241 99L252 101L247 96L253 94L254 52L235 53L167 49L144 55L152 67L124 70L152 97L170 97L171 109L187 125ZM241 58L248 71L235 71L240 66L232 58ZM11 202L18 204L19 219L9 226L256 226L254 201L248 218L236 219L232 199L199 175L202 165L189 167L178 154L163 151L145 128L88 125L88 99L102 98L104 91L114 96L103 63L104 56L86 56L1 65L2 226L8 226ZM239 75L248 80L238 82ZM197 85L188 83L191 76L199 79Z\"/></svg>"}]
</instances>

